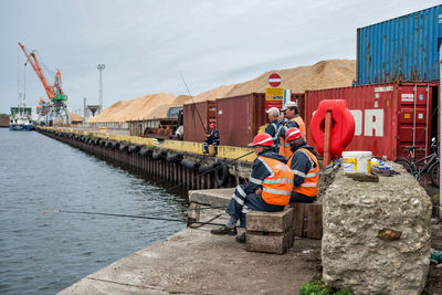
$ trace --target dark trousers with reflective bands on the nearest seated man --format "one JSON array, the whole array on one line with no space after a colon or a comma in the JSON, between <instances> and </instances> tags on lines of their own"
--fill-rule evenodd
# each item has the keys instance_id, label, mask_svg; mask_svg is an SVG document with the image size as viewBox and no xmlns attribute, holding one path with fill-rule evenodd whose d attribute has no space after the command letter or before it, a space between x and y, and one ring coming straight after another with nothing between
<instances>
[{"instance_id":1,"label":"dark trousers with reflective bands on the nearest seated man","mask_svg":"<svg viewBox=\"0 0 442 295\"><path fill-rule=\"evenodd\" d=\"M240 220L240 226L245 228L245 214L251 210L275 212L284 210L285 206L269 204L264 202L261 194L244 192L245 185L240 185L233 192L225 212L232 218Z\"/></svg>"}]
</instances>

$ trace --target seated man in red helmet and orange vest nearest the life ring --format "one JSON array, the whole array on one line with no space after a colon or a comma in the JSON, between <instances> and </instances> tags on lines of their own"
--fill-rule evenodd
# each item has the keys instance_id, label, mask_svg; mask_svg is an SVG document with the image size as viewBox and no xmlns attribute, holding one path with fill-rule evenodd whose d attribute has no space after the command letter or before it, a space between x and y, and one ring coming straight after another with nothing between
<instances>
[{"instance_id":1,"label":"seated man in red helmet and orange vest nearest the life ring","mask_svg":"<svg viewBox=\"0 0 442 295\"><path fill-rule=\"evenodd\" d=\"M307 146L298 128L288 128L285 140L293 151L287 166L294 172L291 202L313 203L319 183L319 165L316 151Z\"/></svg>"}]
</instances>

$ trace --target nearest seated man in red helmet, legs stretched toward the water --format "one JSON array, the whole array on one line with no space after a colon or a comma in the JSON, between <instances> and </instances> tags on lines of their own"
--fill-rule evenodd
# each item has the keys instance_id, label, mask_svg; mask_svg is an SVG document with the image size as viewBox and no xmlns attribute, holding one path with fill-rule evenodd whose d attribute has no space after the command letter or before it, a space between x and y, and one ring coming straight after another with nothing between
<instances>
[{"instance_id":1,"label":"nearest seated man in red helmet, legs stretched toward the water","mask_svg":"<svg viewBox=\"0 0 442 295\"><path fill-rule=\"evenodd\" d=\"M230 219L225 225L212 230L213 234L236 235L236 221L240 220L240 226L245 228L245 213L250 210L274 212L282 211L288 204L293 172L286 165L287 159L272 151L272 136L259 134L249 146L257 156L249 183L236 187L225 210ZM244 243L245 235L236 236L236 241Z\"/></svg>"}]
</instances>

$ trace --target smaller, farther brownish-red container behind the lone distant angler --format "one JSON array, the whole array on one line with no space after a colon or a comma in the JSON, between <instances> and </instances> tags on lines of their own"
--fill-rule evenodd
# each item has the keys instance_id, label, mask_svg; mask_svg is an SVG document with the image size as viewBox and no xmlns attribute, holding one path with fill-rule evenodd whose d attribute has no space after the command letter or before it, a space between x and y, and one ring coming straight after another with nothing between
<instances>
[{"instance_id":1,"label":"smaller, farther brownish-red container behind the lone distant angler","mask_svg":"<svg viewBox=\"0 0 442 295\"><path fill-rule=\"evenodd\" d=\"M215 102L213 101L185 105L182 117L185 127L183 139L186 141L202 143L206 139L209 125L215 123L217 119L215 107Z\"/></svg>"}]
</instances>

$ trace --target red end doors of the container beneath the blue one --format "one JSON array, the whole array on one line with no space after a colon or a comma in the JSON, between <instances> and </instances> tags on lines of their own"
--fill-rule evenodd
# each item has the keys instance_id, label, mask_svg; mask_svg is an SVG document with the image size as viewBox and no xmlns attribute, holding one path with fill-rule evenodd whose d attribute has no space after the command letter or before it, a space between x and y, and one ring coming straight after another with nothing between
<instances>
[{"instance_id":1,"label":"red end doors of the container beneath the blue one","mask_svg":"<svg viewBox=\"0 0 442 295\"><path fill-rule=\"evenodd\" d=\"M432 87L428 84L399 85L398 157L407 157L406 146L417 146L415 156L427 156L431 137Z\"/></svg>"}]
</instances>

